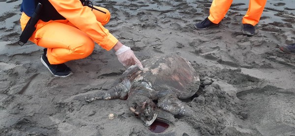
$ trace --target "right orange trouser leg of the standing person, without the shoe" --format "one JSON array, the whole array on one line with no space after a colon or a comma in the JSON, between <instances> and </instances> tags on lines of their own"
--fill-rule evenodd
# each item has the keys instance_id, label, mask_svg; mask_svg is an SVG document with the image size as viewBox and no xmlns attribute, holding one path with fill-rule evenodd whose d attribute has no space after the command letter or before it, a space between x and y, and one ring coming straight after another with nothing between
<instances>
[{"instance_id":1,"label":"right orange trouser leg of the standing person, without the shoe","mask_svg":"<svg viewBox=\"0 0 295 136\"><path fill-rule=\"evenodd\" d=\"M250 0L248 11L243 17L242 23L255 26L260 20L265 5L266 0Z\"/></svg>"}]
</instances>

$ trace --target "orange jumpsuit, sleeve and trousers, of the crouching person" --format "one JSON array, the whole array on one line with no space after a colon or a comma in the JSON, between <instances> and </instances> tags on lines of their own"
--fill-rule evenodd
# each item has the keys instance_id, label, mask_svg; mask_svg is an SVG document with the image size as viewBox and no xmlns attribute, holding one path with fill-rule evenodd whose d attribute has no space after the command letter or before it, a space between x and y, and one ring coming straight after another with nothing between
<instances>
[{"instance_id":1,"label":"orange jumpsuit, sleeve and trousers, of the crouching person","mask_svg":"<svg viewBox=\"0 0 295 136\"><path fill-rule=\"evenodd\" d=\"M91 8L83 6L80 0L49 2L66 20L39 20L29 40L38 46L48 48L47 57L51 64L61 64L89 56L94 49L94 42L107 51L117 44L118 39L103 27L111 17L107 9L95 6L107 14L95 9L91 11ZM22 14L22 30L29 18L25 13Z\"/></svg>"}]
</instances>

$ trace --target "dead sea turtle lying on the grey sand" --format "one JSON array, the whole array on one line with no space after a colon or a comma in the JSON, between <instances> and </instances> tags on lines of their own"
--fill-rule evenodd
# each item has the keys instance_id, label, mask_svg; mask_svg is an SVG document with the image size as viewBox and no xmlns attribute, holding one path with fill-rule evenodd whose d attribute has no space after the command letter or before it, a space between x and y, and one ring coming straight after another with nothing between
<instances>
[{"instance_id":1,"label":"dead sea turtle lying on the grey sand","mask_svg":"<svg viewBox=\"0 0 295 136\"><path fill-rule=\"evenodd\" d=\"M193 96L199 89L200 79L189 61L177 54L152 57L143 62L144 70L133 66L123 73L122 82L106 91L89 94L94 100L122 99L146 126L157 117L155 109L174 115L190 116L193 111L179 99ZM157 104L154 102L157 101Z\"/></svg>"}]
</instances>

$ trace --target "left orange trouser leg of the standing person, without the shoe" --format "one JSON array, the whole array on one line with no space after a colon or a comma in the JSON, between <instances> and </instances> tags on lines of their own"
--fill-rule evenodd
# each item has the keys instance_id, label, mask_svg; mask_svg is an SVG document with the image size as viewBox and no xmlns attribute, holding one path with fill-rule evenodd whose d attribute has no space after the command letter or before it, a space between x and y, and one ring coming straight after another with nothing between
<instances>
[{"instance_id":1,"label":"left orange trouser leg of the standing person, without the shoe","mask_svg":"<svg viewBox=\"0 0 295 136\"><path fill-rule=\"evenodd\" d=\"M225 17L232 2L233 0L213 0L208 19L214 24L218 24Z\"/></svg>"}]
</instances>

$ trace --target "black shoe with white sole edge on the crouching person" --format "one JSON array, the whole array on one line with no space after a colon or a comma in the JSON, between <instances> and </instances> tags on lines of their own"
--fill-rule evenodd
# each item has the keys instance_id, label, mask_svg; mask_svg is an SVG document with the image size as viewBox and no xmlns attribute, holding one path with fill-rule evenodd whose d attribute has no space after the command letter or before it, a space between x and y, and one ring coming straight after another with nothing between
<instances>
[{"instance_id":1,"label":"black shoe with white sole edge on the crouching person","mask_svg":"<svg viewBox=\"0 0 295 136\"><path fill-rule=\"evenodd\" d=\"M53 74L56 77L68 77L73 74L72 70L69 67L67 67L64 63L56 64L56 65L50 64L47 59L46 53L47 53L47 49L45 48L44 54L41 57L41 62L43 63L45 67L49 69L51 74Z\"/></svg>"}]
</instances>

